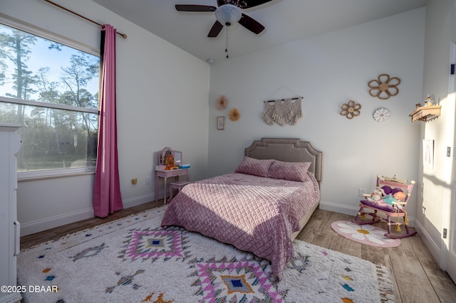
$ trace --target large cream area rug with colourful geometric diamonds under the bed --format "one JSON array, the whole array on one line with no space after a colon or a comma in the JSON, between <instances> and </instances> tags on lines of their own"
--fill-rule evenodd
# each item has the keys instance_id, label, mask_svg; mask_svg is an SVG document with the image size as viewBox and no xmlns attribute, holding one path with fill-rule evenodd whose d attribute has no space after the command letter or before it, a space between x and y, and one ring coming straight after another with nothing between
<instances>
[{"instance_id":1,"label":"large cream area rug with colourful geometric diamonds under the bed","mask_svg":"<svg viewBox=\"0 0 456 303\"><path fill-rule=\"evenodd\" d=\"M166 208L21 251L24 302L395 302L382 265L295 240L278 280L252 253L160 228Z\"/></svg>"}]
</instances>

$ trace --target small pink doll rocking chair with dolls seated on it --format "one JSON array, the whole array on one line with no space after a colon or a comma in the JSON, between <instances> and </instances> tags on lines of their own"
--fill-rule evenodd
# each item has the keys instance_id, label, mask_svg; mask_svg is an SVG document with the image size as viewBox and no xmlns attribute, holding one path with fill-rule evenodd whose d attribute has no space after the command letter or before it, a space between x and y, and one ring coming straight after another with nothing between
<instances>
[{"instance_id":1,"label":"small pink doll rocking chair with dolls seated on it","mask_svg":"<svg viewBox=\"0 0 456 303\"><path fill-rule=\"evenodd\" d=\"M359 203L358 215L352 222L359 225L386 222L388 233L385 233L385 237L388 238L401 239L415 235L416 231L411 231L408 228L407 211L405 211L413 186L415 186L415 181L399 180L395 176L393 178L377 176L377 189L385 195L379 201L368 199L371 195L364 195L366 199ZM379 212L384 213L386 218L378 216ZM372 220L366 220L366 215L372 216ZM403 223L399 222L400 218L403 218ZM391 225L396 226L397 233L391 233ZM400 225L405 226L405 233L400 233Z\"/></svg>"}]
</instances>

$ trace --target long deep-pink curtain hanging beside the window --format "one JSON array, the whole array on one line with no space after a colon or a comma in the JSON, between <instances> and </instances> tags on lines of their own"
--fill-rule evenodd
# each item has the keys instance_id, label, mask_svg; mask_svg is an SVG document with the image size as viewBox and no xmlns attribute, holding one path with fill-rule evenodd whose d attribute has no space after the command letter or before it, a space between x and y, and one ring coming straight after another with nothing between
<instances>
[{"instance_id":1,"label":"long deep-pink curtain hanging beside the window","mask_svg":"<svg viewBox=\"0 0 456 303\"><path fill-rule=\"evenodd\" d=\"M93 213L104 218L123 209L120 194L115 112L115 28L105 24L101 31L100 121L98 155L93 186Z\"/></svg>"}]
</instances>

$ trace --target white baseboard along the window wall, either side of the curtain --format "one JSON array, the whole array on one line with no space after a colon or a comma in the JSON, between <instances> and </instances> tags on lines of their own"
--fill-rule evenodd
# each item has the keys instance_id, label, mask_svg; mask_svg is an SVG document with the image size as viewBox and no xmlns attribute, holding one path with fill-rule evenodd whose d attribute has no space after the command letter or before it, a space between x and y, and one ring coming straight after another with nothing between
<instances>
[{"instance_id":1,"label":"white baseboard along the window wall, either side of the curtain","mask_svg":"<svg viewBox=\"0 0 456 303\"><path fill-rule=\"evenodd\" d=\"M123 200L123 208L130 208L138 206L150 201L155 201L155 196L152 194L125 199ZM93 218L93 209L83 209L81 211L74 211L71 213L63 213L59 216L53 216L42 220L36 220L29 223L21 223L21 236L31 235L32 233L38 233L43 230L56 228L58 226L66 225L69 223L78 222Z\"/></svg>"}]
</instances>

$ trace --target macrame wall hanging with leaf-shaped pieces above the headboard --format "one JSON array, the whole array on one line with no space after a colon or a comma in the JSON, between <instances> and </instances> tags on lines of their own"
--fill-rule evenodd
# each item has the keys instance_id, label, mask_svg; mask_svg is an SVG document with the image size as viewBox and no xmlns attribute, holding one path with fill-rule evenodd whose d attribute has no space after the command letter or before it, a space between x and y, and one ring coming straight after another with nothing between
<instances>
[{"instance_id":1,"label":"macrame wall hanging with leaf-shaped pieces above the headboard","mask_svg":"<svg viewBox=\"0 0 456 303\"><path fill-rule=\"evenodd\" d=\"M264 101L263 119L268 125L275 123L296 125L302 117L302 97Z\"/></svg>"}]
</instances>

